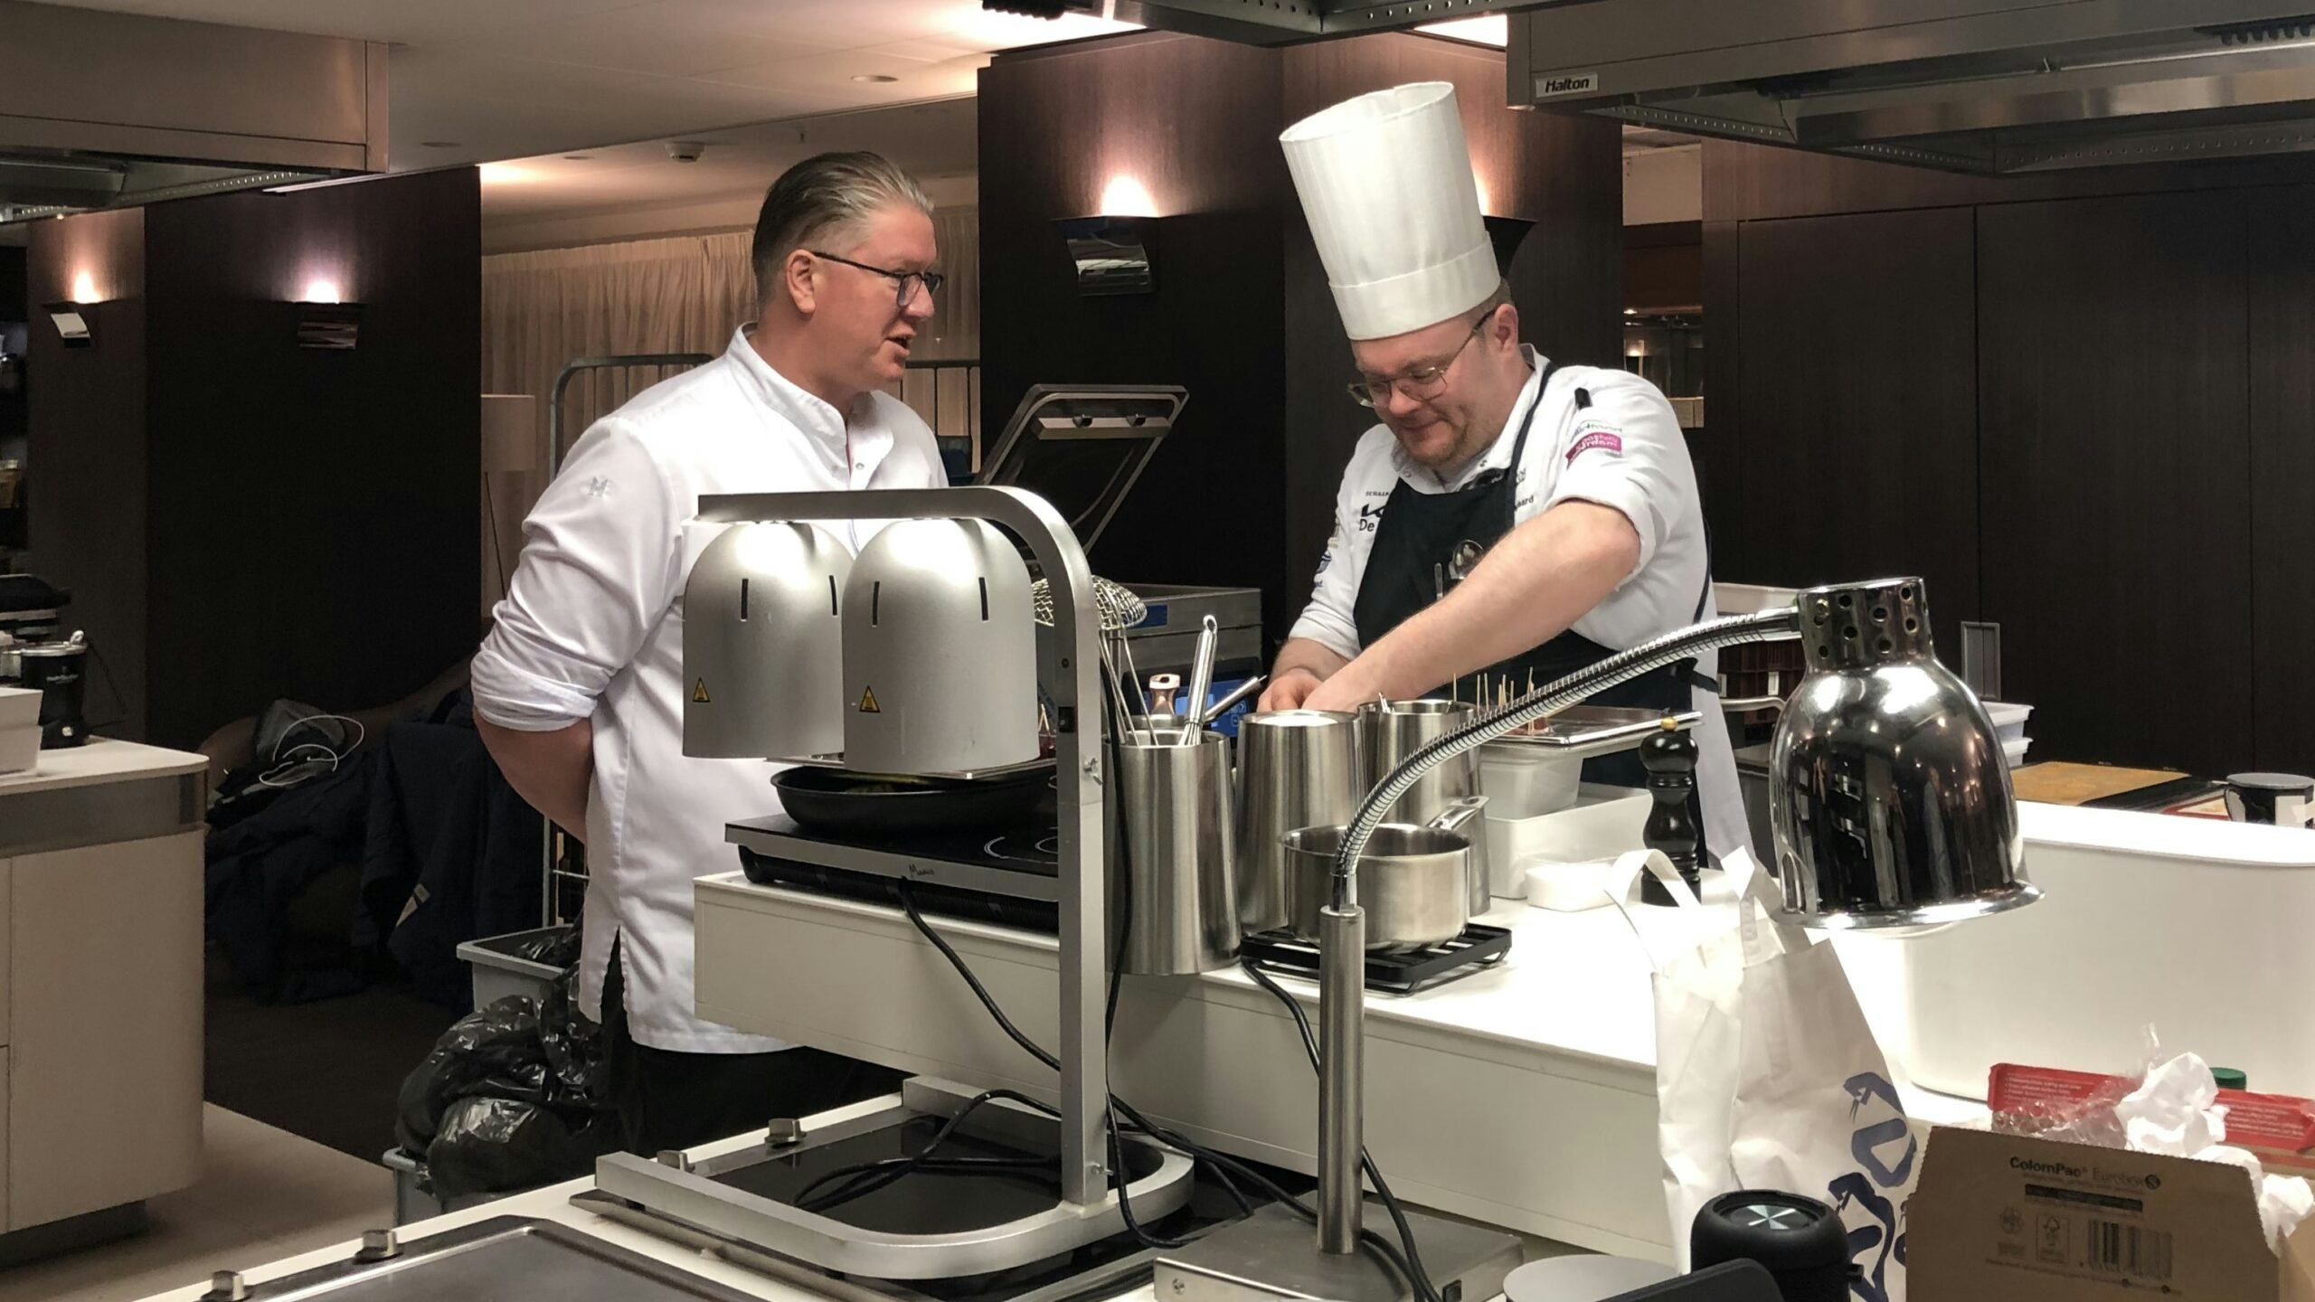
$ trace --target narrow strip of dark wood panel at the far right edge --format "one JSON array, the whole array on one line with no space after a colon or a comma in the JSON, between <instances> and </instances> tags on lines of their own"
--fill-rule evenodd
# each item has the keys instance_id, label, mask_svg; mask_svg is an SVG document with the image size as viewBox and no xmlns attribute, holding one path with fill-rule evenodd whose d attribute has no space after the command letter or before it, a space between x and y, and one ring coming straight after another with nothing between
<instances>
[{"instance_id":1,"label":"narrow strip of dark wood panel at the far right edge","mask_svg":"<svg viewBox=\"0 0 2315 1302\"><path fill-rule=\"evenodd\" d=\"M2315 774L2315 188L2257 192L2248 222L2252 739Z\"/></svg>"}]
</instances>

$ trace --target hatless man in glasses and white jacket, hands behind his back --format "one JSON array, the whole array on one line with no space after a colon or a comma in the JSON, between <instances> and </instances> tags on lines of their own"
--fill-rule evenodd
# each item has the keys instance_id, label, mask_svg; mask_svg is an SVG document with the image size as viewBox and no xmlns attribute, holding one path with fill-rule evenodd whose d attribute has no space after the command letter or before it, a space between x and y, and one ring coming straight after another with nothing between
<instances>
[{"instance_id":1,"label":"hatless man in glasses and white jacket, hands behind his back","mask_svg":"<svg viewBox=\"0 0 2315 1302\"><path fill-rule=\"evenodd\" d=\"M759 320L722 357L595 422L523 521L475 656L475 714L523 797L586 829L581 1008L609 1038L625 1142L653 1154L803 1117L875 1068L701 1022L692 878L725 822L778 811L773 769L683 755L683 584L704 493L938 489L933 433L882 392L933 315L931 202L877 155L799 162L755 227ZM870 526L833 526L854 549Z\"/></svg>"}]
</instances>

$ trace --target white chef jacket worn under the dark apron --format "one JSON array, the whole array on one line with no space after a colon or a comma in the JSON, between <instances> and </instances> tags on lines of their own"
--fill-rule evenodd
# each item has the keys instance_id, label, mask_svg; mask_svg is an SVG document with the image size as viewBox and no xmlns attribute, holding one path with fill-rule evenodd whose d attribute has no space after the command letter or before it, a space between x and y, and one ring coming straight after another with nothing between
<instances>
[{"instance_id":1,"label":"white chef jacket worn under the dark apron","mask_svg":"<svg viewBox=\"0 0 2315 1302\"><path fill-rule=\"evenodd\" d=\"M1528 431L1528 449L1519 466L1519 493L1512 524L1583 500L1614 507L1639 533L1639 561L1623 584L1600 605L1577 619L1574 630L1609 651L1639 646L1697 619L1713 619L1711 575L1704 540L1704 505L1697 498L1697 470L1688 459L1688 440L1671 403L1655 385L1630 371L1600 366L1560 366L1551 385L1542 385L1544 357L1526 350L1528 385L1512 403L1495 442L1440 480L1408 459L1389 426L1375 424L1359 438L1343 489L1333 503L1333 537L1317 565L1317 588L1303 607L1289 637L1308 637L1329 651L1359 653L1354 602L1366 577L1366 556L1375 547L1382 510L1391 489L1405 482L1417 493L1449 493L1489 470L1509 468L1512 445L1528 405L1542 401ZM1542 389L1542 394L1537 394ZM1590 394L1590 405L1577 410L1577 389ZM1697 614L1697 595L1704 614ZM1718 656L1697 658L1697 672L1718 674ZM1713 855L1750 846L1743 818L1743 792L1736 785L1736 755L1729 748L1720 702L1695 693L1704 723L1697 727L1697 788L1704 797L1704 834Z\"/></svg>"}]
</instances>

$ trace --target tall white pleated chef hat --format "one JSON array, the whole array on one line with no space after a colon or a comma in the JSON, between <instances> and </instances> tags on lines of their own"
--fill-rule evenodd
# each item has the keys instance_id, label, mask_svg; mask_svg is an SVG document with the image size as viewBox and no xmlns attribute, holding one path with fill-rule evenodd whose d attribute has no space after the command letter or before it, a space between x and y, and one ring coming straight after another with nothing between
<instances>
[{"instance_id":1,"label":"tall white pleated chef hat","mask_svg":"<svg viewBox=\"0 0 2315 1302\"><path fill-rule=\"evenodd\" d=\"M1350 338L1387 338L1502 283L1447 81L1373 90L1278 137Z\"/></svg>"}]
</instances>

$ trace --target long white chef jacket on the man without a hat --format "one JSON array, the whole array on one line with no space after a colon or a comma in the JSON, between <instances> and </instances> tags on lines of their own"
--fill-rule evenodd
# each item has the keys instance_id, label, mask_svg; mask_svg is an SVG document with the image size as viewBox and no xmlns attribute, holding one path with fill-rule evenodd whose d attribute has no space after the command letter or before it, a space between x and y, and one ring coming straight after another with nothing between
<instances>
[{"instance_id":1,"label":"long white chef jacket on the man without a hat","mask_svg":"<svg viewBox=\"0 0 2315 1302\"><path fill-rule=\"evenodd\" d=\"M595 422L523 521L523 561L475 656L475 714L553 732L595 721L579 1005L602 1019L620 941L639 1045L766 1052L780 1040L692 1008L692 878L732 869L725 822L780 811L762 760L683 755L683 584L722 526L701 493L947 487L933 431L898 398L852 412L732 336L722 357ZM854 551L875 524L829 524Z\"/></svg>"}]
</instances>

